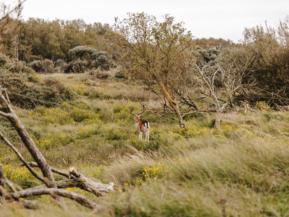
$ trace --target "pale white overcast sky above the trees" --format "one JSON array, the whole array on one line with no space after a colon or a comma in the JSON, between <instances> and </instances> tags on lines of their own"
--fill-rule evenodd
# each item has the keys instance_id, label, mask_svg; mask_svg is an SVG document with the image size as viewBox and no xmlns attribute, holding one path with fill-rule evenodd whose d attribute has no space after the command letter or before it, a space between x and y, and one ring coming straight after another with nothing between
<instances>
[{"instance_id":1,"label":"pale white overcast sky above the trees","mask_svg":"<svg viewBox=\"0 0 289 217\"><path fill-rule=\"evenodd\" d=\"M1 1L1 0L0 0ZM4 0L15 5L15 0ZM145 12L162 21L164 14L183 21L196 38L223 38L238 42L245 27L282 21L289 14L289 0L27 0L22 18L39 17L86 23L114 24L114 17L126 18L128 12Z\"/></svg>"}]
</instances>

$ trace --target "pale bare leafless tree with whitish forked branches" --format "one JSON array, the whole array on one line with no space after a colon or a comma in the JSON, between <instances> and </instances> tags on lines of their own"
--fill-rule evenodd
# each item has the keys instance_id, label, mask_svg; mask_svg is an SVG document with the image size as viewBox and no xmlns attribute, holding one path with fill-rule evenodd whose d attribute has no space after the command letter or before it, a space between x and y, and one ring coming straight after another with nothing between
<instances>
[{"instance_id":1,"label":"pale bare leafless tree with whitish forked branches","mask_svg":"<svg viewBox=\"0 0 289 217\"><path fill-rule=\"evenodd\" d=\"M247 69L253 61L253 56L248 55L241 64L235 61L228 65L221 65L222 63L219 62L198 64L194 59L188 64L192 75L197 76L200 81L198 87L191 88L201 93L201 99L214 107L216 128L220 128L221 113L225 107L227 105L234 107L232 99L239 94L238 92L254 85L252 72L251 75L247 74ZM244 81L245 77L246 81ZM210 111L209 108L207 110Z\"/></svg>"}]
</instances>

